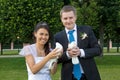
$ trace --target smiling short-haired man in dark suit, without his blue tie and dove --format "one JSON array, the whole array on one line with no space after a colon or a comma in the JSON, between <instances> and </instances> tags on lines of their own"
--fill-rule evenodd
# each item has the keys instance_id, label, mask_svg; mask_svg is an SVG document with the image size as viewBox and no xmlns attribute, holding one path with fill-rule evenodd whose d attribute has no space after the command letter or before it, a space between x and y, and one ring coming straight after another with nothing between
<instances>
[{"instance_id":1,"label":"smiling short-haired man in dark suit, without his blue tie and dove","mask_svg":"<svg viewBox=\"0 0 120 80\"><path fill-rule=\"evenodd\" d=\"M54 35L55 42L63 46L64 53L58 59L62 63L61 80L78 80L73 74L72 57L76 56L79 60L81 70L80 80L101 80L94 61L95 56L101 55L101 49L97 39L89 26L78 26L76 24L77 12L73 6L64 6L60 11L61 21L64 30ZM69 49L69 34L73 31L76 48Z\"/></svg>"}]
</instances>

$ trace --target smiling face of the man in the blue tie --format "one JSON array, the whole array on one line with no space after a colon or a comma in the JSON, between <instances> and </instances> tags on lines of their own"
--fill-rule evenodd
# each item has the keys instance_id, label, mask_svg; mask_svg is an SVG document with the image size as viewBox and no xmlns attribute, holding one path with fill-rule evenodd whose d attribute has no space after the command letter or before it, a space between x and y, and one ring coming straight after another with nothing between
<instances>
[{"instance_id":1,"label":"smiling face of the man in the blue tie","mask_svg":"<svg viewBox=\"0 0 120 80\"><path fill-rule=\"evenodd\" d=\"M71 30L74 28L76 16L73 11L63 12L61 15L61 21L67 29Z\"/></svg>"}]
</instances>

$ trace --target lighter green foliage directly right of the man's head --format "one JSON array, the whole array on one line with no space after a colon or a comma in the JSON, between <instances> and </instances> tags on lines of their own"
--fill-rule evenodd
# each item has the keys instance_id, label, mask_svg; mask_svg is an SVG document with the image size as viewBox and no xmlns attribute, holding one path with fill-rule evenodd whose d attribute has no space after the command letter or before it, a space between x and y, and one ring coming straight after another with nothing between
<instances>
[{"instance_id":1,"label":"lighter green foliage directly right of the man's head","mask_svg":"<svg viewBox=\"0 0 120 80\"><path fill-rule=\"evenodd\" d=\"M93 28L96 37L99 39L99 21L98 21L98 6L94 0L76 0L73 5L77 8L78 19L77 24L89 25Z\"/></svg>"}]
</instances>

